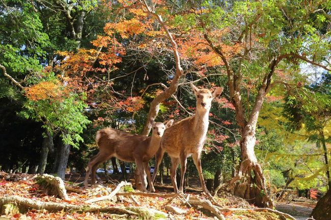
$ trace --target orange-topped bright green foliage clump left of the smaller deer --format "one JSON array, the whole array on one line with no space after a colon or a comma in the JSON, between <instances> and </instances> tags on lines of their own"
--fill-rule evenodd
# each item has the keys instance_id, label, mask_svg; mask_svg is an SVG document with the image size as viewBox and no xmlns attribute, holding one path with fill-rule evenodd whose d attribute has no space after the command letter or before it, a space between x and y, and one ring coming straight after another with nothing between
<instances>
[{"instance_id":1,"label":"orange-topped bright green foliage clump left of the smaller deer","mask_svg":"<svg viewBox=\"0 0 331 220\"><path fill-rule=\"evenodd\" d=\"M72 88L54 78L52 74L43 81L26 88L21 115L42 121L42 127L50 134L58 134L66 144L78 147L83 139L82 133L90 123L82 114L87 105L84 103L86 95L74 93Z\"/></svg>"}]
</instances>

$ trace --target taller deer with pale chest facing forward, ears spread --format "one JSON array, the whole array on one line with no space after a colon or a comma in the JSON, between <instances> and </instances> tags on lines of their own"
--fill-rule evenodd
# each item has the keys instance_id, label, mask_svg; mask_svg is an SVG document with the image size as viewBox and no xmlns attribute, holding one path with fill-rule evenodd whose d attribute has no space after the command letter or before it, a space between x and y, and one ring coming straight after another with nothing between
<instances>
[{"instance_id":1,"label":"taller deer with pale chest facing forward, ears spread","mask_svg":"<svg viewBox=\"0 0 331 220\"><path fill-rule=\"evenodd\" d=\"M193 161L197 167L202 190L209 195L206 188L201 168L201 151L206 140L208 130L208 117L213 98L218 97L222 91L222 87L216 88L213 92L208 89L198 89L192 83L190 84L197 99L196 114L175 122L170 129L164 132L161 139L160 148L155 155L155 168L152 182L157 175L158 167L162 160L164 151L171 158L171 181L174 186L175 193L183 192L184 174L186 171L187 157L192 155ZM180 163L181 178L179 191L176 184L176 169Z\"/></svg>"}]
</instances>

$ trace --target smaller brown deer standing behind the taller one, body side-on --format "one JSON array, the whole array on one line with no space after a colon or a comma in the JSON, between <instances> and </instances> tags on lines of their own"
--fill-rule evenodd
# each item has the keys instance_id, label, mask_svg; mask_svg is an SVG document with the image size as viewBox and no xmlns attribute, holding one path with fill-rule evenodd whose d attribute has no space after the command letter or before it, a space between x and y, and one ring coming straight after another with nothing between
<instances>
[{"instance_id":1,"label":"smaller brown deer standing behind the taller one, body side-on","mask_svg":"<svg viewBox=\"0 0 331 220\"><path fill-rule=\"evenodd\" d=\"M90 171L92 172L91 180L93 185L95 180L95 171L98 165L109 160L109 158L115 157L121 161L135 162L141 176L144 191L147 191L144 181L145 170L150 191L155 192L151 181L148 161L153 158L158 150L164 130L171 127L173 122L174 120L169 120L163 124L162 122L151 121L153 128L151 137L129 134L111 128L99 130L95 137L95 141L99 147L99 152L93 156L88 163L84 181L85 187L88 186Z\"/></svg>"}]
</instances>

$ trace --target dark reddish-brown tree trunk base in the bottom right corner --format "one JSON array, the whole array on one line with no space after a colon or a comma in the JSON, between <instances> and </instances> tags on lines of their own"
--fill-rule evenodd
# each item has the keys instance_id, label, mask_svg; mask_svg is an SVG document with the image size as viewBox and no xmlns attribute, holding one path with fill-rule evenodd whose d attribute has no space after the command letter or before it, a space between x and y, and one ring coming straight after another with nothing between
<instances>
[{"instance_id":1,"label":"dark reddish-brown tree trunk base in the bottom right corner","mask_svg":"<svg viewBox=\"0 0 331 220\"><path fill-rule=\"evenodd\" d=\"M331 188L329 188L325 196L318 201L311 216L316 220L331 219Z\"/></svg>"}]
</instances>

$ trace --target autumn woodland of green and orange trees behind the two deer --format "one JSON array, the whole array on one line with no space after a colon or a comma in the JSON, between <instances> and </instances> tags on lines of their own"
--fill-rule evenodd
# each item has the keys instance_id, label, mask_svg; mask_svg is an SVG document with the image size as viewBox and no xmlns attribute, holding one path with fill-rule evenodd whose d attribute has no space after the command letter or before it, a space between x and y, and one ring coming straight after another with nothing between
<instances>
[{"instance_id":1,"label":"autumn woodland of green and orange trees behind the two deer","mask_svg":"<svg viewBox=\"0 0 331 220\"><path fill-rule=\"evenodd\" d=\"M324 194L330 9L330 1L2 1L1 169L84 173L97 130L148 135L148 118L185 118L194 82L225 88L202 157L214 188L230 181L261 206L287 189ZM169 167L165 157L163 174ZM191 159L186 175L197 176Z\"/></svg>"}]
</instances>

